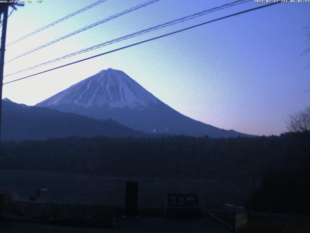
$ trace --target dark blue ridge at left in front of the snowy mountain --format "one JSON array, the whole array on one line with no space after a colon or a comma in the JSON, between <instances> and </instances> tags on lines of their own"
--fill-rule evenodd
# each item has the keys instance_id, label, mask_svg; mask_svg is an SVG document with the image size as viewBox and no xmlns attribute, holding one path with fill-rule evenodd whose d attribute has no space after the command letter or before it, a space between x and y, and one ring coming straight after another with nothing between
<instances>
[{"instance_id":1,"label":"dark blue ridge at left in front of the snowy mountain","mask_svg":"<svg viewBox=\"0 0 310 233\"><path fill-rule=\"evenodd\" d=\"M47 139L68 136L148 136L114 120L98 120L54 109L2 101L2 140Z\"/></svg>"}]
</instances>

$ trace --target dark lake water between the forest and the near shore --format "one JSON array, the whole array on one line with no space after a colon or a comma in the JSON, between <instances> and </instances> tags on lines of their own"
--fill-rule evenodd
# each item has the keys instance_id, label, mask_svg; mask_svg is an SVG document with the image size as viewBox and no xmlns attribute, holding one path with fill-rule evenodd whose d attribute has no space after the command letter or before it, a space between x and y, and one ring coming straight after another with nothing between
<instances>
[{"instance_id":1,"label":"dark lake water between the forest and the near shore","mask_svg":"<svg viewBox=\"0 0 310 233\"><path fill-rule=\"evenodd\" d=\"M244 205L259 183L198 179L142 179L100 177L36 171L0 171L0 191L13 200L29 201L40 193L39 202L123 206L127 181L136 181L138 206L163 208L168 193L198 194L203 208L224 203Z\"/></svg>"}]
</instances>

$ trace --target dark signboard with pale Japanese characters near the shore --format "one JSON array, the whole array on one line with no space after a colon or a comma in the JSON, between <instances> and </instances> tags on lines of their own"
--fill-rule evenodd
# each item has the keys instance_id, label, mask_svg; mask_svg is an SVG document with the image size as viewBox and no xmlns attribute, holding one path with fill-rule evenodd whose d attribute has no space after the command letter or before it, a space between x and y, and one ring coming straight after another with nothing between
<instances>
[{"instance_id":1,"label":"dark signboard with pale Japanese characters near the shore","mask_svg":"<svg viewBox=\"0 0 310 233\"><path fill-rule=\"evenodd\" d=\"M198 195L195 194L168 194L168 206L198 207Z\"/></svg>"}]
</instances>

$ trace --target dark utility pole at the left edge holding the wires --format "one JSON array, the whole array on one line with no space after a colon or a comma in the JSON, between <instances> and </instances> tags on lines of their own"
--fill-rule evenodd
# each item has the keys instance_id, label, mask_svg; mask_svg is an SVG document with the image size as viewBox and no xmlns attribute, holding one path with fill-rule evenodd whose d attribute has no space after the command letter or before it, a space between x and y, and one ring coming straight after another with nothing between
<instances>
[{"instance_id":1,"label":"dark utility pole at the left edge holding the wires","mask_svg":"<svg viewBox=\"0 0 310 233\"><path fill-rule=\"evenodd\" d=\"M2 9L3 9L3 22L2 22L1 48L0 48L0 151L1 151L1 108L2 108L4 53L5 53L5 39L6 39L6 27L8 22L9 5L4 5Z\"/></svg>"}]
</instances>

